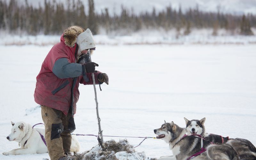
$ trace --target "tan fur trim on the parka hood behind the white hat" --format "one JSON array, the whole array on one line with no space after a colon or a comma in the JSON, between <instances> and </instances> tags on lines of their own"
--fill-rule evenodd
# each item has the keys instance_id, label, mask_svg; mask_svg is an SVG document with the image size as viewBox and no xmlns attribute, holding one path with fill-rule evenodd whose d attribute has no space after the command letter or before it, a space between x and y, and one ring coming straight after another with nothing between
<instances>
[{"instance_id":1,"label":"tan fur trim on the parka hood behind the white hat","mask_svg":"<svg viewBox=\"0 0 256 160\"><path fill-rule=\"evenodd\" d=\"M71 26L68 27L63 34L63 38L65 40L65 44L68 47L74 47L76 44L76 38L80 33L84 32L84 28L80 26Z\"/></svg>"}]
</instances>

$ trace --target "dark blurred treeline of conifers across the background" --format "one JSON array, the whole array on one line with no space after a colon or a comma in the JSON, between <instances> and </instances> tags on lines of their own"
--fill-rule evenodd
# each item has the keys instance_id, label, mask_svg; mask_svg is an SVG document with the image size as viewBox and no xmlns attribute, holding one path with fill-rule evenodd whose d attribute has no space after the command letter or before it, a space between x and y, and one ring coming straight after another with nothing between
<instances>
[{"instance_id":1,"label":"dark blurred treeline of conifers across the background","mask_svg":"<svg viewBox=\"0 0 256 160\"><path fill-rule=\"evenodd\" d=\"M132 10L122 6L121 14L109 15L108 8L101 13L95 12L93 0L88 0L89 11L85 11L81 0L66 0L56 3L55 0L44 0L44 5L34 7L27 0L24 5L17 0L0 0L0 29L9 33L61 34L65 28L78 25L90 28L93 34L99 34L103 29L106 33L128 34L141 29L175 28L177 33L183 30L184 35L191 32L191 28L212 28L213 35L218 29L226 29L231 34L239 30L239 34L253 35L251 27L256 27L256 16L233 15L221 12L203 12L198 7L190 8L186 12L172 9L168 6L162 12L151 11L134 14Z\"/></svg>"}]
</instances>

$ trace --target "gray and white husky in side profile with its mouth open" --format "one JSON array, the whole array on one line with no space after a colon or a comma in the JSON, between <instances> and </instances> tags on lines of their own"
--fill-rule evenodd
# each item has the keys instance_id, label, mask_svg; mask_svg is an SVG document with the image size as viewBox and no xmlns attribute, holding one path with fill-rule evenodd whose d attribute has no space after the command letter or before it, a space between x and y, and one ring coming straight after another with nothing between
<instances>
[{"instance_id":1,"label":"gray and white husky in side profile with its mouth open","mask_svg":"<svg viewBox=\"0 0 256 160\"><path fill-rule=\"evenodd\" d=\"M158 135L156 138L163 139L169 144L177 160L192 158L193 160L239 160L236 150L231 145L227 143L215 145L197 136L184 136L186 128L181 128L173 122L162 124L161 128L155 129L154 132ZM204 148L206 151L193 157Z\"/></svg>"}]
</instances>

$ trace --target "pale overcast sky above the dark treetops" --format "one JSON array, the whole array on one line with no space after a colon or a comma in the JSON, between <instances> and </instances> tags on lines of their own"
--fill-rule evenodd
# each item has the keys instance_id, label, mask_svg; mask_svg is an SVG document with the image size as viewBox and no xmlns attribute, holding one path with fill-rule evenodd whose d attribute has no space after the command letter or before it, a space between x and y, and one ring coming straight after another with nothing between
<instances>
[{"instance_id":1,"label":"pale overcast sky above the dark treetops","mask_svg":"<svg viewBox=\"0 0 256 160\"><path fill-rule=\"evenodd\" d=\"M66 0L56 1L67 2ZM84 2L85 5L88 4L88 0L81 1ZM19 2L21 2L21 0L19 0ZM25 2L25 0L23 2ZM38 6L39 2L41 5L44 4L44 0L28 0L28 2L34 6ZM217 11L217 6L220 6L221 12L256 14L256 0L94 0L94 3L96 12L101 12L101 10L108 8L110 14L113 14L114 12L119 14L121 5L128 9L133 8L134 13L140 13L152 11L153 7L156 8L156 11L161 11L166 6L170 5L175 9L178 9L179 5L181 5L182 10L185 11L189 7L195 8L196 4L199 9L203 11ZM88 9L86 12L88 12Z\"/></svg>"}]
</instances>

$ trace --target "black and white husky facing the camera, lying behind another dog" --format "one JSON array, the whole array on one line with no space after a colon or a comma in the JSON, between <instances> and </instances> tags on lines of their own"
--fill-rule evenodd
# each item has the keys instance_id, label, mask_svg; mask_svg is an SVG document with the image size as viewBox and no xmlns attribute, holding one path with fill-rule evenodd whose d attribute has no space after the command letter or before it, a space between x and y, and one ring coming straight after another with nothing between
<instances>
[{"instance_id":1,"label":"black and white husky facing the camera, lying behind another dog","mask_svg":"<svg viewBox=\"0 0 256 160\"><path fill-rule=\"evenodd\" d=\"M201 120L188 120L185 118L186 122L186 131L188 135L193 134L199 134L201 135L205 140L221 144L221 143L227 143L230 144L233 148L236 149L238 156L241 160L255 160L256 159L256 148L255 146L249 141L245 139L229 139L228 137L222 137L217 134L209 134L205 133L205 127L204 122L205 118Z\"/></svg>"}]
</instances>

